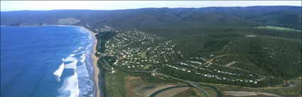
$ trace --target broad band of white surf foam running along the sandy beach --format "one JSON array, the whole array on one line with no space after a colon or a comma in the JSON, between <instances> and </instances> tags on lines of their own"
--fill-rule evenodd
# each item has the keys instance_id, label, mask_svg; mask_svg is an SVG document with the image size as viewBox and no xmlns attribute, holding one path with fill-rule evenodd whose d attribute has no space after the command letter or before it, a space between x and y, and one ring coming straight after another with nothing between
<instances>
[{"instance_id":1,"label":"broad band of white surf foam running along the sandy beach","mask_svg":"<svg viewBox=\"0 0 302 97\"><path fill-rule=\"evenodd\" d=\"M89 33L87 30L80 29L83 33ZM87 65L90 65L90 55L92 47L92 34L89 33L90 40L87 41L86 47L78 47L77 50L73 51L73 54L70 54L69 57L63 59L65 63L65 69L73 69L75 74L65 79L63 85L60 87L61 95L60 96L93 96L93 84L90 78L89 69L92 69L92 66L87 69ZM77 54L75 54L78 52ZM88 58L87 58L88 57Z\"/></svg>"}]
</instances>

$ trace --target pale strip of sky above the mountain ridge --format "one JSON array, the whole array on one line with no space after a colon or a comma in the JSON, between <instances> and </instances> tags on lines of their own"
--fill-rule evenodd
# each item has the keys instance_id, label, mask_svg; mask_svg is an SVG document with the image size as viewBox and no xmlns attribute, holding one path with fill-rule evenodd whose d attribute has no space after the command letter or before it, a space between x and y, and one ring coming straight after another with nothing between
<instances>
[{"instance_id":1,"label":"pale strip of sky above the mountain ridge","mask_svg":"<svg viewBox=\"0 0 302 97\"><path fill-rule=\"evenodd\" d=\"M301 6L301 1L1 1L1 11L129 8L200 8L209 6Z\"/></svg>"}]
</instances>

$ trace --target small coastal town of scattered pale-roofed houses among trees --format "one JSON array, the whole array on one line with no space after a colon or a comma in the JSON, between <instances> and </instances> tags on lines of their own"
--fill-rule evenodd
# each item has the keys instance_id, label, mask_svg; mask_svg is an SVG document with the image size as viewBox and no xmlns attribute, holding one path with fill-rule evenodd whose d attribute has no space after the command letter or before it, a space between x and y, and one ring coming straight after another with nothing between
<instances>
[{"instance_id":1,"label":"small coastal town of scattered pale-roofed houses among trees","mask_svg":"<svg viewBox=\"0 0 302 97\"><path fill-rule=\"evenodd\" d=\"M214 58L215 55L184 57L180 51L174 49L176 43L173 40L166 40L135 28L116 32L117 35L107 40L104 51L107 61L116 69L156 71L163 74L165 71L178 71L205 80L217 79L252 84L258 84L266 77L250 74L244 70L232 71L232 67L215 63L219 61ZM214 60L209 62L210 59ZM230 64L234 63L236 62ZM114 68L111 73L117 73Z\"/></svg>"}]
</instances>

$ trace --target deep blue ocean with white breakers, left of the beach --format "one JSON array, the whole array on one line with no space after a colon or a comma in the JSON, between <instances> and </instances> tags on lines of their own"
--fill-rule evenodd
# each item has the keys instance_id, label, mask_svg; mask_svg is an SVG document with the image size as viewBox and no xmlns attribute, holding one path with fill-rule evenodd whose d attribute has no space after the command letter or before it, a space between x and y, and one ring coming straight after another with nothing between
<instances>
[{"instance_id":1,"label":"deep blue ocean with white breakers, left of the beach","mask_svg":"<svg viewBox=\"0 0 302 97\"><path fill-rule=\"evenodd\" d=\"M92 44L74 26L1 26L1 97L92 96Z\"/></svg>"}]
</instances>

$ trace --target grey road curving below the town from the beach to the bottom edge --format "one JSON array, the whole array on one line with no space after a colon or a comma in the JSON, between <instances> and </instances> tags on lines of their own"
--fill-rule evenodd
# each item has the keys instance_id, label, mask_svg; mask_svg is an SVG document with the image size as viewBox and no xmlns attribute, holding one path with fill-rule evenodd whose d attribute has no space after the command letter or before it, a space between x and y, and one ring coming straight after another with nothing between
<instances>
[{"instance_id":1,"label":"grey road curving below the town from the beach to the bottom edge","mask_svg":"<svg viewBox=\"0 0 302 97\"><path fill-rule=\"evenodd\" d=\"M106 61L106 59L104 59L104 57L102 57L102 59L103 59L104 63L107 65L107 67L114 68L114 67L112 67L112 66ZM155 71L150 72L150 71L126 70L126 69L119 69L119 70L124 71L124 72L144 72L144 73L150 73L150 74L154 74L154 75L157 74L157 75L160 75L160 76L165 76L165 77L169 77L169 78L176 79L176 80L179 80L179 81L183 81L183 82L189 84L190 86L195 87L195 89L198 89L198 91L202 92L202 93L204 94L205 97L210 97L210 96L207 95L207 93L206 93L205 90L203 90L200 86L196 85L196 84L198 84L198 83L195 82L195 81L188 81L188 80L185 80L185 79L179 79L179 78L176 78L176 77L173 77L173 76L168 76L168 75L166 75L166 74L158 73L158 72L155 72Z\"/></svg>"}]
</instances>

